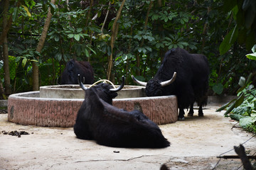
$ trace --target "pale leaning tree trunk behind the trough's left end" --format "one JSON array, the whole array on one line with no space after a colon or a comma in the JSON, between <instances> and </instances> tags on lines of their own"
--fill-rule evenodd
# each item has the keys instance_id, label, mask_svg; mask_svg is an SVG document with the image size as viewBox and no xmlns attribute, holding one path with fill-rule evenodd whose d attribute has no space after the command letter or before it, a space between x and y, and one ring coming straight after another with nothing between
<instances>
[{"instance_id":1,"label":"pale leaning tree trunk behind the trough's left end","mask_svg":"<svg viewBox=\"0 0 256 170\"><path fill-rule=\"evenodd\" d=\"M55 4L56 0L51 0L51 4ZM46 22L43 26L43 33L39 39L38 45L36 47L37 52L41 52L44 42L46 41L46 35L48 28L50 26L50 19L52 17L52 13L50 13L50 7L48 9L47 17L46 17ZM36 57L36 60L39 60L39 56ZM33 91L38 91L39 90L39 69L38 69L38 62L32 62L32 67L33 67Z\"/></svg>"}]
</instances>

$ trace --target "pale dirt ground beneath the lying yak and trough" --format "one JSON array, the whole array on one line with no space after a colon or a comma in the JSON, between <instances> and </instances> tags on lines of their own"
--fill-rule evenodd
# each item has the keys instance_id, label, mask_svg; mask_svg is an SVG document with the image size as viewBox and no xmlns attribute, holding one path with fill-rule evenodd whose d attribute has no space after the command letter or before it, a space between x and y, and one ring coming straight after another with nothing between
<instances>
[{"instance_id":1,"label":"pale dirt ground beneath the lying yak and trough","mask_svg":"<svg viewBox=\"0 0 256 170\"><path fill-rule=\"evenodd\" d=\"M196 111L193 118L160 125L171 142L164 149L104 147L77 139L73 128L16 125L7 121L7 114L0 114L0 169L160 169L161 164L172 170L239 169L240 159L216 157L240 144L255 154L256 137L215 112L218 107L207 106L203 118ZM24 130L30 135L4 135L3 130ZM223 155L233 154L232 150Z\"/></svg>"}]
</instances>

